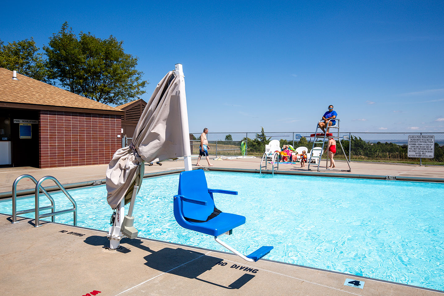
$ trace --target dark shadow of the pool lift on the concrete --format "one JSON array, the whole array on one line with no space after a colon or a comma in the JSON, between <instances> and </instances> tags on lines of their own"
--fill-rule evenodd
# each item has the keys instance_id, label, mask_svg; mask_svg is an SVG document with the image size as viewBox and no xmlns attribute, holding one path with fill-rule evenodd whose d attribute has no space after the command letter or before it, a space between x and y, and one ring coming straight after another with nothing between
<instances>
[{"instance_id":1,"label":"dark shadow of the pool lift on the concrete","mask_svg":"<svg viewBox=\"0 0 444 296\"><path fill-rule=\"evenodd\" d=\"M87 237L84 241L89 245L103 246L103 248L106 248L106 246L109 245L107 237L102 236L93 235ZM216 282L198 278L198 276L201 276L203 273L210 271L214 266L221 264L223 261L223 259L221 258L207 256L204 253L186 250L180 247L176 249L165 247L158 251L154 251L148 246L144 245L144 243L146 244L147 241L142 241L138 238L132 240L128 238L123 238L120 242L121 244L131 245L150 253L147 256L143 257L143 259L146 260L146 263L144 264L161 272L174 274L176 276L182 276L188 279L196 279L207 284L212 284L226 289L242 288L243 285L254 278L254 275L244 273L239 278L236 278L233 283L225 286L223 284L218 284ZM119 250L119 252L129 253L131 252L131 249L121 245L121 249ZM230 275L225 274L225 276Z\"/></svg>"}]
</instances>

